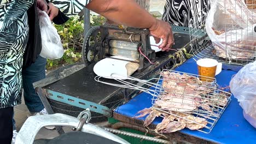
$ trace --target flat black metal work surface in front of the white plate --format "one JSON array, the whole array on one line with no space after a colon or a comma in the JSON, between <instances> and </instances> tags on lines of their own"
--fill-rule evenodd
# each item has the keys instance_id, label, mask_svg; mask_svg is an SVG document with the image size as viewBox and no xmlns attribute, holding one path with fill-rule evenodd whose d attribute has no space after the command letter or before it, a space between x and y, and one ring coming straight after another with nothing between
<instances>
[{"instance_id":1,"label":"flat black metal work surface in front of the white plate","mask_svg":"<svg viewBox=\"0 0 256 144\"><path fill-rule=\"evenodd\" d=\"M118 90L118 87L96 82L94 80L96 76L93 71L94 65L90 64L88 67L44 88L76 98L93 101L94 103L100 103L102 98L104 98L103 95L111 95L114 91Z\"/></svg>"}]
</instances>

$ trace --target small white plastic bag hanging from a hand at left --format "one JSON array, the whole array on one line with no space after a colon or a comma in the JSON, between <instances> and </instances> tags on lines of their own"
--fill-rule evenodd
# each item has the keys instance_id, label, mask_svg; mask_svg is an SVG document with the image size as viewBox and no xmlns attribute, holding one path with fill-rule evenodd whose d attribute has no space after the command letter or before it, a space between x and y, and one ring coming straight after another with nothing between
<instances>
[{"instance_id":1,"label":"small white plastic bag hanging from a hand at left","mask_svg":"<svg viewBox=\"0 0 256 144\"><path fill-rule=\"evenodd\" d=\"M38 10L38 15L42 37L42 51L40 56L48 59L61 58L64 49L57 29L51 24L51 20L45 11Z\"/></svg>"}]
</instances>

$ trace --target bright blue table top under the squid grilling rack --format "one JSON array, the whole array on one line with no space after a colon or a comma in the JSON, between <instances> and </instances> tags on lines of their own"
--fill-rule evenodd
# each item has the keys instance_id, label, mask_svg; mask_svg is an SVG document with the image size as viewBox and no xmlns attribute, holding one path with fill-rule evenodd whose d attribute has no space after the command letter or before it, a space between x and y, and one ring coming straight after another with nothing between
<instances>
[{"instance_id":1,"label":"bright blue table top under the squid grilling rack","mask_svg":"<svg viewBox=\"0 0 256 144\"><path fill-rule=\"evenodd\" d=\"M194 59L190 58L175 70L197 74L196 62ZM221 87L229 86L232 75L235 75L236 73L237 72L232 70L222 70L222 72L216 76L218 85ZM136 113L138 111L151 106L152 95L141 93L131 99L128 103L118 107L114 112L127 117L134 117L137 116ZM146 117L137 119L144 121L145 118ZM162 118L158 117L153 123L158 124L161 121ZM243 118L242 108L234 96L231 96L229 106L213 127L210 134L205 134L197 130L189 130L187 128L180 130L180 132L217 143L256 143L256 129Z\"/></svg>"}]
</instances>

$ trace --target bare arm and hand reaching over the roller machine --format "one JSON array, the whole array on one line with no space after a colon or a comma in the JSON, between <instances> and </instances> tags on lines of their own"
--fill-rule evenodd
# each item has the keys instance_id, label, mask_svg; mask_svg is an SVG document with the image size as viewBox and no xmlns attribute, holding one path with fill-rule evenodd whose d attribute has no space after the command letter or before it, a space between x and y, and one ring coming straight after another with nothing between
<instances>
[{"instance_id":1,"label":"bare arm and hand reaching over the roller machine","mask_svg":"<svg viewBox=\"0 0 256 144\"><path fill-rule=\"evenodd\" d=\"M148 28L151 34L163 40L160 48L166 50L174 43L171 26L167 22L155 19L146 10L139 7L135 1L131 0L92 0L86 8L125 26Z\"/></svg>"}]
</instances>

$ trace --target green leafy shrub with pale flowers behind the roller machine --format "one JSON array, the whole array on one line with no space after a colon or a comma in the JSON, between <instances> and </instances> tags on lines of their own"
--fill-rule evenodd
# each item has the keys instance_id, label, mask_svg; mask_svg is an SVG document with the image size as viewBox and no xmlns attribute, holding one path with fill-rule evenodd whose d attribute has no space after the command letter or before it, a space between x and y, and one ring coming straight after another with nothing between
<instances>
[{"instance_id":1,"label":"green leafy shrub with pale flowers behind the roller machine","mask_svg":"<svg viewBox=\"0 0 256 144\"><path fill-rule=\"evenodd\" d=\"M106 21L104 17L91 15L90 25L100 26ZM84 41L84 21L79 16L72 16L63 25L54 25L57 29L63 49L63 57L55 60L47 60L46 69L55 69L62 65L73 64L82 61L82 47Z\"/></svg>"}]
</instances>

